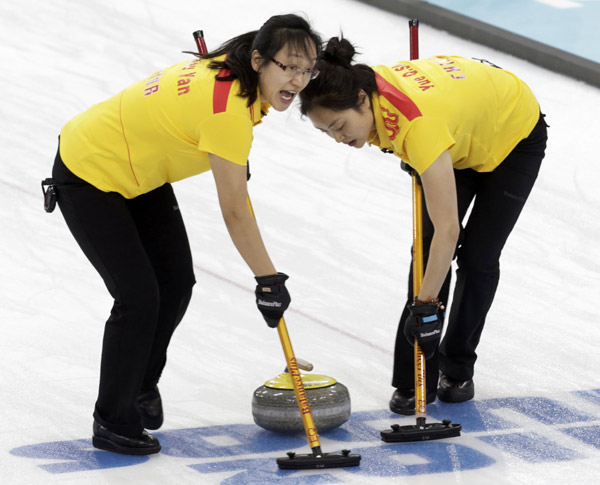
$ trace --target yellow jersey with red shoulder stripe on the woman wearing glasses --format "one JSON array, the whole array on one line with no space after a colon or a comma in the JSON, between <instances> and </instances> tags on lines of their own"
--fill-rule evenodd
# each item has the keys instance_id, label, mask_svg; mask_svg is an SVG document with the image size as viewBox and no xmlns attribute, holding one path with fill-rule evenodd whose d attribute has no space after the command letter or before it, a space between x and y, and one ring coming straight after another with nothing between
<instances>
[{"instance_id":1,"label":"yellow jersey with red shoulder stripe on the woman wearing glasses","mask_svg":"<svg viewBox=\"0 0 600 485\"><path fill-rule=\"evenodd\" d=\"M210 62L153 72L73 118L60 133L65 165L126 198L210 170L209 153L246 165L253 127L268 105L258 93L248 107L239 81L215 80Z\"/></svg>"}]
</instances>

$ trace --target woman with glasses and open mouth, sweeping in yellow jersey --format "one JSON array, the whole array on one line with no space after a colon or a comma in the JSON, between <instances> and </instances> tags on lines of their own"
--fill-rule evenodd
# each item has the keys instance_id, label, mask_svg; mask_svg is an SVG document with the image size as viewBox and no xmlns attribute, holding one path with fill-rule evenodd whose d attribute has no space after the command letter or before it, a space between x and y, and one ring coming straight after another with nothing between
<instances>
[{"instance_id":1,"label":"woman with glasses and open mouth, sweeping in yellow jersey","mask_svg":"<svg viewBox=\"0 0 600 485\"><path fill-rule=\"evenodd\" d=\"M248 203L253 128L286 110L316 77L321 39L296 15L157 70L61 130L52 178L58 205L114 299L104 330L95 447L160 450L146 429L163 422L158 381L195 283L171 183L212 171L221 212L276 327L290 303Z\"/></svg>"}]
</instances>

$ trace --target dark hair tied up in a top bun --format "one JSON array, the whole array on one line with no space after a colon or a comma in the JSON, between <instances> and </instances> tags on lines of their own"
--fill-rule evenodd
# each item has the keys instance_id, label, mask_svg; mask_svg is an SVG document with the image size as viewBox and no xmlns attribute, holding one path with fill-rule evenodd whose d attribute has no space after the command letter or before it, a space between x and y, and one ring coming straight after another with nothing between
<instances>
[{"instance_id":1,"label":"dark hair tied up in a top bun","mask_svg":"<svg viewBox=\"0 0 600 485\"><path fill-rule=\"evenodd\" d=\"M316 68L319 77L300 91L300 112L308 114L321 106L333 111L359 110L367 96L377 91L375 73L366 64L352 64L356 50L346 39L332 37L327 42Z\"/></svg>"}]
</instances>

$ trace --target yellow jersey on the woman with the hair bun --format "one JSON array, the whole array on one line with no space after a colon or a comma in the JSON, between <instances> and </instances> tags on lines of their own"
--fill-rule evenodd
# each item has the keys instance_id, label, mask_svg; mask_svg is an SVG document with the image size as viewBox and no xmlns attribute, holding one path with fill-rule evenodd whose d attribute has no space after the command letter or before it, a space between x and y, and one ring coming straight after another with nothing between
<instances>
[{"instance_id":1,"label":"yellow jersey on the woman with the hair bun","mask_svg":"<svg viewBox=\"0 0 600 485\"><path fill-rule=\"evenodd\" d=\"M494 170L540 116L514 74L458 56L376 66L376 137L419 174L448 149L456 169Z\"/></svg>"}]
</instances>

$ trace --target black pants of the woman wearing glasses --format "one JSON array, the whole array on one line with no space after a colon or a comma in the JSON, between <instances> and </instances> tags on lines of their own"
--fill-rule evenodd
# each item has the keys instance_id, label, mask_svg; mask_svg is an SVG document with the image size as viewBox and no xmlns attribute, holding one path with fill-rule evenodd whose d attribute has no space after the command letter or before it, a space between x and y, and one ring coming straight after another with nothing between
<instances>
[{"instance_id":1,"label":"black pants of the woman wearing glasses","mask_svg":"<svg viewBox=\"0 0 600 485\"><path fill-rule=\"evenodd\" d=\"M137 436L137 396L152 389L195 283L183 219L170 184L134 199L76 177L57 154L58 206L114 305L104 329L95 419Z\"/></svg>"}]
</instances>

